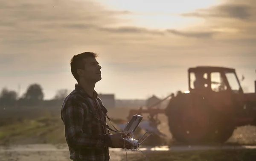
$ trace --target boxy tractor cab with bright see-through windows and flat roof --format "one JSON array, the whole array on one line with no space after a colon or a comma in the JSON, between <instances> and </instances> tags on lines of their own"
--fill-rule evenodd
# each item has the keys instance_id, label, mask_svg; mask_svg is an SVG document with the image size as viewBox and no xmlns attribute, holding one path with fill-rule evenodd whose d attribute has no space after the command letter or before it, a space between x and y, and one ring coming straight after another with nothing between
<instances>
[{"instance_id":1,"label":"boxy tractor cab with bright see-through windows and flat roof","mask_svg":"<svg viewBox=\"0 0 256 161\"><path fill-rule=\"evenodd\" d=\"M189 68L189 91L194 93L243 93L235 69L223 67Z\"/></svg>"}]
</instances>

